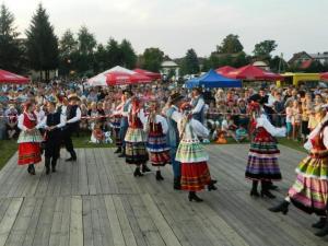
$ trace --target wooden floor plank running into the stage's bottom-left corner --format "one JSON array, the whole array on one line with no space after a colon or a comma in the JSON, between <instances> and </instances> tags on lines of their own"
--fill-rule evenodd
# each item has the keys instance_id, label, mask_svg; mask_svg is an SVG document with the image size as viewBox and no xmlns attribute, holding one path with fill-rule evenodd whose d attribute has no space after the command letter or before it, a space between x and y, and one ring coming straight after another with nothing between
<instances>
[{"instance_id":1,"label":"wooden floor plank running into the stage's bottom-left corner","mask_svg":"<svg viewBox=\"0 0 328 246\"><path fill-rule=\"evenodd\" d=\"M20 212L23 198L12 198L4 216L0 222L0 246L3 246Z\"/></svg>"}]
</instances>

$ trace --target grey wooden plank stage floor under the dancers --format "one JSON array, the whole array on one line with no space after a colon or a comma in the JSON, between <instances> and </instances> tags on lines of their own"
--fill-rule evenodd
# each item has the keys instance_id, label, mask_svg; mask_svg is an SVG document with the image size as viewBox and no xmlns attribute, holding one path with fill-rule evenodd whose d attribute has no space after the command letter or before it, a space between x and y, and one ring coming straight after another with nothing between
<instances>
[{"instance_id":1,"label":"grey wooden plank stage floor under the dancers","mask_svg":"<svg viewBox=\"0 0 328 246\"><path fill-rule=\"evenodd\" d=\"M171 166L162 183L154 173L134 178L114 149L78 149L77 163L65 163L62 150L58 172L49 176L44 164L30 176L15 155L0 172L0 246L328 245L327 237L313 235L316 216L292 206L288 215L267 210L293 184L304 153L281 147L278 198L254 199L244 178L247 149L208 147L219 189L201 192L202 203L173 190Z\"/></svg>"}]
</instances>

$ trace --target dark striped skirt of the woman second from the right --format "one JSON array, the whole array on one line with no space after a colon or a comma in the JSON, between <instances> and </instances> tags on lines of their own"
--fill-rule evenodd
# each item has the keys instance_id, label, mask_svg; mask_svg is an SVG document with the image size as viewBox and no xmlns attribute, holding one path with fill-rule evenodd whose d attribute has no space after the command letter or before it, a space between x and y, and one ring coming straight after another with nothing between
<instances>
[{"instance_id":1,"label":"dark striped skirt of the woman second from the right","mask_svg":"<svg viewBox=\"0 0 328 246\"><path fill-rule=\"evenodd\" d=\"M245 177L251 180L280 180L279 154L276 142L251 142Z\"/></svg>"}]
</instances>

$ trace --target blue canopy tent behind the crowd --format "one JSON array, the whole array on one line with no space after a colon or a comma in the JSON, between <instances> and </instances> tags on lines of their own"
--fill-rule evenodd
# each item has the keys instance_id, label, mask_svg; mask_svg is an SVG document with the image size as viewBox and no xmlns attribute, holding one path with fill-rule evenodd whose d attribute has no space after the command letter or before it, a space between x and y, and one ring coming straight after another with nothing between
<instances>
[{"instance_id":1,"label":"blue canopy tent behind the crowd","mask_svg":"<svg viewBox=\"0 0 328 246\"><path fill-rule=\"evenodd\" d=\"M242 81L225 78L211 69L208 73L206 73L199 78L194 78L186 82L187 89L201 87L201 86L203 86L203 87L242 87Z\"/></svg>"}]
</instances>

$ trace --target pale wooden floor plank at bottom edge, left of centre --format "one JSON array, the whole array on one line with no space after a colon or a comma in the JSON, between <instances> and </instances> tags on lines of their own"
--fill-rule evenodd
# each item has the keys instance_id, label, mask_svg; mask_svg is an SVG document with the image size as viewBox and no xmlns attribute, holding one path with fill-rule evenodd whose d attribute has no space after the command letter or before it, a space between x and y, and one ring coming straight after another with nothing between
<instances>
[{"instance_id":1,"label":"pale wooden floor plank at bottom edge, left of centre","mask_svg":"<svg viewBox=\"0 0 328 246\"><path fill-rule=\"evenodd\" d=\"M83 220L82 220L82 198L73 196L71 199L70 220L70 246L83 246Z\"/></svg>"}]
</instances>

